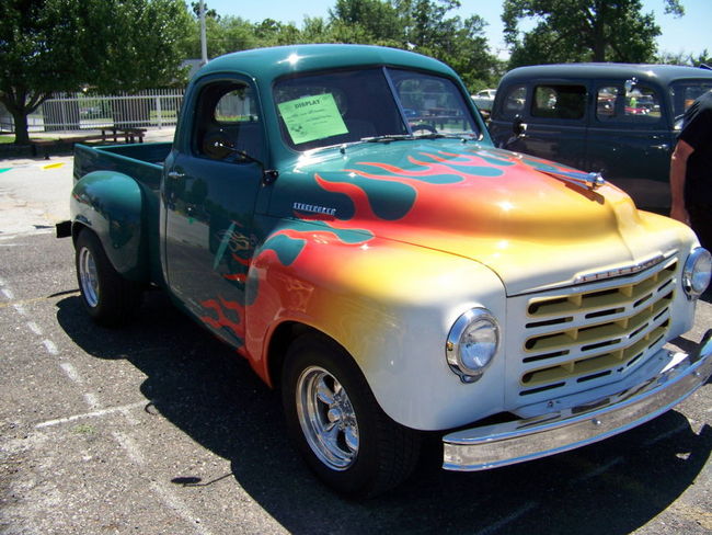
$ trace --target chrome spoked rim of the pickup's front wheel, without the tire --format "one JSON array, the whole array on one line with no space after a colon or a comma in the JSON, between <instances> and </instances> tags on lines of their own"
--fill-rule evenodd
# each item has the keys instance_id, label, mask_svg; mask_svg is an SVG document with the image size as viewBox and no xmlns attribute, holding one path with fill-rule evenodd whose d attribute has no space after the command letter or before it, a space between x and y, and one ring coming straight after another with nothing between
<instances>
[{"instance_id":1,"label":"chrome spoked rim of the pickup's front wheel, without the tire","mask_svg":"<svg viewBox=\"0 0 712 535\"><path fill-rule=\"evenodd\" d=\"M346 470L358 455L358 422L342 384L319 366L310 366L297 383L297 414L317 457L333 470Z\"/></svg>"}]
</instances>

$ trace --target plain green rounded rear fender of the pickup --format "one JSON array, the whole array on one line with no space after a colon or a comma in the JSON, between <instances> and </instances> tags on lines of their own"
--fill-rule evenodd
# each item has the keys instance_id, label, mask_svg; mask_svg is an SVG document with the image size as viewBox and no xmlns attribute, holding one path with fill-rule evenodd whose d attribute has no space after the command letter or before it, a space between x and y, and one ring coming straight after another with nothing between
<instances>
[{"instance_id":1,"label":"plain green rounded rear fender of the pickup","mask_svg":"<svg viewBox=\"0 0 712 535\"><path fill-rule=\"evenodd\" d=\"M143 193L131 177L114 171L94 171L72 189L72 236L90 228L101 240L106 257L124 277L149 281Z\"/></svg>"}]
</instances>

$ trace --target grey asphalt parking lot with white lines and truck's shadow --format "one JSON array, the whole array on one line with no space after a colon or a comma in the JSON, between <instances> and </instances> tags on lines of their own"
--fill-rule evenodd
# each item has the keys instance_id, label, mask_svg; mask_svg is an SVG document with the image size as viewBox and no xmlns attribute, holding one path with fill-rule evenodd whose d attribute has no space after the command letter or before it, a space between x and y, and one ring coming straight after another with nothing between
<instances>
[{"instance_id":1,"label":"grey asphalt parking lot with white lines and truck's shadow","mask_svg":"<svg viewBox=\"0 0 712 535\"><path fill-rule=\"evenodd\" d=\"M455 474L432 446L403 487L342 500L287 441L278 394L165 295L122 329L84 315L71 240L51 234L70 157L2 169L0 533L712 532L709 383L575 452ZM712 326L709 295L678 346Z\"/></svg>"}]
</instances>

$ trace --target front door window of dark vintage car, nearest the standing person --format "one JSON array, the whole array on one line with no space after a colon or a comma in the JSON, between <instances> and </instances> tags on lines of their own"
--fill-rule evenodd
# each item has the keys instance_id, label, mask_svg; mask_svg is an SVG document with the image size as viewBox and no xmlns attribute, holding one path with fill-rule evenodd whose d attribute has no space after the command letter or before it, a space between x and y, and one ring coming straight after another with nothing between
<instances>
[{"instance_id":1,"label":"front door window of dark vintage car, nearest the standing person","mask_svg":"<svg viewBox=\"0 0 712 535\"><path fill-rule=\"evenodd\" d=\"M625 90L622 86L606 86L596 94L596 118L600 122L648 124L661 119L657 93L645 86Z\"/></svg>"}]
</instances>

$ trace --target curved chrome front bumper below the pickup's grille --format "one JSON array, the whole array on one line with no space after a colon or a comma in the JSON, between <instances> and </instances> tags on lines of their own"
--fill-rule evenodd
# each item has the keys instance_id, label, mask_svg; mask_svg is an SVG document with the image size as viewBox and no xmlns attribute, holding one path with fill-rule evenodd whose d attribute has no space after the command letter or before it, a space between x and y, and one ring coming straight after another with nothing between
<instances>
[{"instance_id":1,"label":"curved chrome front bumper below the pickup's grille","mask_svg":"<svg viewBox=\"0 0 712 535\"><path fill-rule=\"evenodd\" d=\"M443 437L443 468L474 471L574 449L628 431L666 412L712 375L712 329L690 354L676 353L655 377L613 396Z\"/></svg>"}]
</instances>

